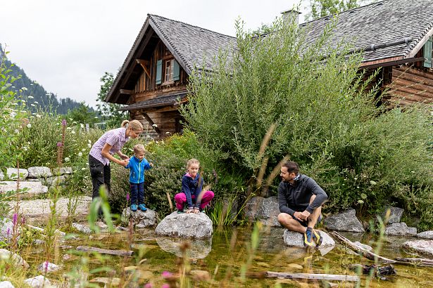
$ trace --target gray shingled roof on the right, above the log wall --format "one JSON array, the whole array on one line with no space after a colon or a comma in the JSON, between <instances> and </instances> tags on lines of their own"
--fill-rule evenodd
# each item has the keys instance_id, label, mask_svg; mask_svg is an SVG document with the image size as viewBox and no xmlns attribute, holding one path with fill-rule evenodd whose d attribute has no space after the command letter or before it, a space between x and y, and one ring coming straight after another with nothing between
<instances>
[{"instance_id":1,"label":"gray shingled roof on the right, above the log wall","mask_svg":"<svg viewBox=\"0 0 433 288\"><path fill-rule=\"evenodd\" d=\"M305 23L307 41L320 37L332 16ZM363 62L387 58L412 58L433 34L433 0L384 0L354 8L337 15L337 25L332 31L332 48L341 42L355 49L411 39L399 44L363 53Z\"/></svg>"}]
</instances>

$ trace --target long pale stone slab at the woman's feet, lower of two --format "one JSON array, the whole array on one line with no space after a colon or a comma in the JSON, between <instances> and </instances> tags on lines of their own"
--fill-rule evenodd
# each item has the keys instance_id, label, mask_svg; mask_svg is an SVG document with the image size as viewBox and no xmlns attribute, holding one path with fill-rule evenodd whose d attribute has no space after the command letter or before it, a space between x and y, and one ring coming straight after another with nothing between
<instances>
[{"instance_id":1,"label":"long pale stone slab at the woman's feet, lower of two","mask_svg":"<svg viewBox=\"0 0 433 288\"><path fill-rule=\"evenodd\" d=\"M92 203L92 197L80 196L77 199L77 208L75 209L74 220L84 221L89 215L89 207ZM68 197L61 197L56 203L56 214L57 220L64 220L68 217ZM10 217L12 217L13 209L17 202L8 202L11 207ZM47 223L51 214L50 205L52 204L51 199L34 199L34 200L23 200L18 202L19 213L25 216L26 223Z\"/></svg>"}]
</instances>

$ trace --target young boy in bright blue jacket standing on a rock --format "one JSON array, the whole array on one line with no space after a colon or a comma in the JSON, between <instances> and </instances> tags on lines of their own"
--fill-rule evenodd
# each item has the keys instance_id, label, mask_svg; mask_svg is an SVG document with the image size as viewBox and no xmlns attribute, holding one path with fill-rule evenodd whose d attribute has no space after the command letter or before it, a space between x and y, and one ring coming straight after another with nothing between
<instances>
[{"instance_id":1,"label":"young boy in bright blue jacket standing on a rock","mask_svg":"<svg viewBox=\"0 0 433 288\"><path fill-rule=\"evenodd\" d=\"M152 166L153 164L144 158L144 146L134 145L134 156L125 166L126 169L130 169L131 211L137 211L137 208L147 210L144 205L144 171L151 169Z\"/></svg>"}]
</instances>

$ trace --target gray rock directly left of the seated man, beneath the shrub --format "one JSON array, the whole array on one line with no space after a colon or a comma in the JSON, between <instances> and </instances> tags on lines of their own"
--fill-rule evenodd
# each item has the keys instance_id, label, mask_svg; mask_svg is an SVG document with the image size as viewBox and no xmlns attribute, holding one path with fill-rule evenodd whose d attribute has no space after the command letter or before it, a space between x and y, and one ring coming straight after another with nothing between
<instances>
[{"instance_id":1,"label":"gray rock directly left of the seated man, beneath the shrub","mask_svg":"<svg viewBox=\"0 0 433 288\"><path fill-rule=\"evenodd\" d=\"M245 205L245 216L250 222L262 221L265 225L280 227L278 222L278 207L277 196L268 198L253 197Z\"/></svg>"}]
</instances>

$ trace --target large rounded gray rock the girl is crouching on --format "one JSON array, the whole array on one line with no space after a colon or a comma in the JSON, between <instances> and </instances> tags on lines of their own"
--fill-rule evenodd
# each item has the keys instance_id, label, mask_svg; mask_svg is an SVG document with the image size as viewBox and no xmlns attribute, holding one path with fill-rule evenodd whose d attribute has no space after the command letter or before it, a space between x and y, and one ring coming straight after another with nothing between
<instances>
[{"instance_id":1,"label":"large rounded gray rock the girl is crouching on","mask_svg":"<svg viewBox=\"0 0 433 288\"><path fill-rule=\"evenodd\" d=\"M204 213L177 214L177 211L163 218L155 233L169 237L210 238L213 233L212 221Z\"/></svg>"}]
</instances>

